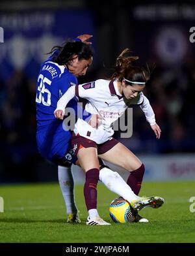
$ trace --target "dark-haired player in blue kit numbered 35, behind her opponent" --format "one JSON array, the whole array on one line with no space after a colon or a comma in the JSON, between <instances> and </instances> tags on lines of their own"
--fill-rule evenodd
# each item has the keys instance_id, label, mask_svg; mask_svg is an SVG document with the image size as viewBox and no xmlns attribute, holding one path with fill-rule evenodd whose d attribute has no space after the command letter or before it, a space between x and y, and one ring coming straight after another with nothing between
<instances>
[{"instance_id":1,"label":"dark-haired player in blue kit numbered 35, behind her opponent","mask_svg":"<svg viewBox=\"0 0 195 256\"><path fill-rule=\"evenodd\" d=\"M90 35L81 35L78 40L68 41L63 47L53 48L51 56L44 61L38 75L36 86L36 141L38 151L45 159L59 165L59 184L66 203L68 222L79 222L77 206L74 198L74 184L72 176L72 157L70 138L72 132L64 130L63 121L57 120L53 112L57 101L70 88L77 84L77 76L86 74L92 64L93 52L90 48ZM75 110L76 97L68 104ZM96 126L96 115L86 115L82 111L83 119L90 116L90 124Z\"/></svg>"}]
</instances>

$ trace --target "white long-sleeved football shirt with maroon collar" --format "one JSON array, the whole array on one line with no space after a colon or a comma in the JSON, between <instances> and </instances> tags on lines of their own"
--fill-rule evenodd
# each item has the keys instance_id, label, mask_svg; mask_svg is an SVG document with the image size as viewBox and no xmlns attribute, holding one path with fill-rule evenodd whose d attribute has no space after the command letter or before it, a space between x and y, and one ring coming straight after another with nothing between
<instances>
[{"instance_id":1,"label":"white long-sleeved football shirt with maroon collar","mask_svg":"<svg viewBox=\"0 0 195 256\"><path fill-rule=\"evenodd\" d=\"M85 106L85 110L91 114L99 114L103 120L98 129L95 129L86 121L79 118L75 124L74 133L75 135L79 133L79 135L85 138L94 140L97 144L101 144L112 138L114 134L112 125L114 121L122 116L129 104L140 104L146 120L150 124L155 123L154 113L146 96L140 92L134 99L124 101L123 96L118 91L116 80L99 79L87 84L72 86L60 98L56 110L64 111L66 104L75 95L87 99L88 103Z\"/></svg>"}]
</instances>

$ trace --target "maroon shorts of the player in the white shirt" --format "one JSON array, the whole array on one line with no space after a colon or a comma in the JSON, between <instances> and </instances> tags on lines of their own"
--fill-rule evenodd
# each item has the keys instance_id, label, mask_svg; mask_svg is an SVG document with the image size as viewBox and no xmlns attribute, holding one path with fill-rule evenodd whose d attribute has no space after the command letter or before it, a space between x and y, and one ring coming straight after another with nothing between
<instances>
[{"instance_id":1,"label":"maroon shorts of the player in the white shirt","mask_svg":"<svg viewBox=\"0 0 195 256\"><path fill-rule=\"evenodd\" d=\"M118 143L118 140L116 140L115 138L111 138L111 140L107 140L102 144L97 144L96 142L94 142L94 140L89 140L88 138L80 135L76 136L74 133L71 140L75 156L77 156L77 153L79 152L79 150L81 150L81 148L97 148L98 155L101 155L102 153L108 152Z\"/></svg>"}]
</instances>

